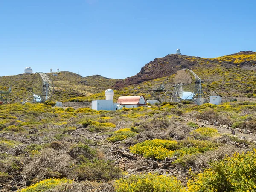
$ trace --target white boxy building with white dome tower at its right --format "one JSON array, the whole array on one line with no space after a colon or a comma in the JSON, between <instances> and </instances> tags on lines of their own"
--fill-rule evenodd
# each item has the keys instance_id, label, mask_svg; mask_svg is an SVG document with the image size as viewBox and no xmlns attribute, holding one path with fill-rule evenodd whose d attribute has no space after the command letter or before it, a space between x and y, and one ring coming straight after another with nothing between
<instances>
[{"instance_id":1,"label":"white boxy building with white dome tower at its right","mask_svg":"<svg viewBox=\"0 0 256 192\"><path fill-rule=\"evenodd\" d=\"M113 103L114 91L107 89L105 91L106 100L93 100L92 109L94 110L117 110L119 103Z\"/></svg>"}]
</instances>

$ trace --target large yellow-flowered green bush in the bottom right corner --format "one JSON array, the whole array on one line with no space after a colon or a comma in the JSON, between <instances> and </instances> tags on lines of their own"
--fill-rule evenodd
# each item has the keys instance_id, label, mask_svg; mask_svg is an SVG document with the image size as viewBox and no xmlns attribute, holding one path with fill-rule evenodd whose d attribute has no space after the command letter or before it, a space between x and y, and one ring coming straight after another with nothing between
<instances>
[{"instance_id":1,"label":"large yellow-flowered green bush in the bottom right corner","mask_svg":"<svg viewBox=\"0 0 256 192\"><path fill-rule=\"evenodd\" d=\"M256 191L256 150L211 163L188 181L188 192Z\"/></svg>"}]
</instances>

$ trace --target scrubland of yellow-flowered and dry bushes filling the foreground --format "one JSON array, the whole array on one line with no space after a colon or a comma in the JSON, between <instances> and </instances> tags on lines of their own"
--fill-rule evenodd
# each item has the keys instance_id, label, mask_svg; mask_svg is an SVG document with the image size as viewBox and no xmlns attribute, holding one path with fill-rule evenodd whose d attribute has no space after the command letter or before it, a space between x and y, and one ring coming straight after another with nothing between
<instances>
[{"instance_id":1,"label":"scrubland of yellow-flowered and dry bushes filling the foreground","mask_svg":"<svg viewBox=\"0 0 256 192\"><path fill-rule=\"evenodd\" d=\"M253 191L256 138L242 132L256 133L255 111L255 102L117 111L0 105L1 185L20 192Z\"/></svg>"}]
</instances>

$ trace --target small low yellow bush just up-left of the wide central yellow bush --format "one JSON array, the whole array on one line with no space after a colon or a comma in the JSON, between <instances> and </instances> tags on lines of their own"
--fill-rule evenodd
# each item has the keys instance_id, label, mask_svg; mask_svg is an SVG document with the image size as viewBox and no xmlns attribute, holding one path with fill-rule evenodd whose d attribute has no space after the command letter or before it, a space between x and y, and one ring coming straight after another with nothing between
<instances>
[{"instance_id":1,"label":"small low yellow bush just up-left of the wide central yellow bush","mask_svg":"<svg viewBox=\"0 0 256 192\"><path fill-rule=\"evenodd\" d=\"M108 138L108 140L111 142L116 142L116 141L125 140L128 137L135 137L137 133L134 131L135 130L132 130L131 128L119 129L115 131L113 135Z\"/></svg>"}]
</instances>

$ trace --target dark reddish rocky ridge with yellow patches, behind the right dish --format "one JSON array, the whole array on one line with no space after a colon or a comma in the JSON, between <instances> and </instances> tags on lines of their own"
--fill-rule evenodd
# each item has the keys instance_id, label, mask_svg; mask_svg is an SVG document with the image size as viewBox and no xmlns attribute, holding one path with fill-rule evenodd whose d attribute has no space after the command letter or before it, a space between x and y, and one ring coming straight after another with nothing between
<instances>
[{"instance_id":1,"label":"dark reddish rocky ridge with yellow patches, behind the right dish","mask_svg":"<svg viewBox=\"0 0 256 192\"><path fill-rule=\"evenodd\" d=\"M230 70L255 70L256 69L256 52L241 51L232 55L218 58L200 58L186 55L171 54L163 58L155 58L141 68L135 76L116 82L116 88L121 89L129 85L138 84L144 81L166 77L176 73L178 70L188 68L197 70L199 73L210 70L212 67L221 67ZM241 70L241 72L244 72ZM212 81L218 79L211 76Z\"/></svg>"}]
</instances>

